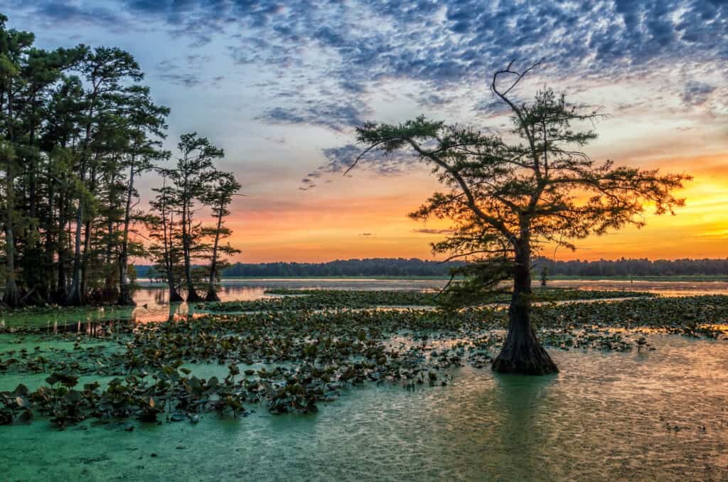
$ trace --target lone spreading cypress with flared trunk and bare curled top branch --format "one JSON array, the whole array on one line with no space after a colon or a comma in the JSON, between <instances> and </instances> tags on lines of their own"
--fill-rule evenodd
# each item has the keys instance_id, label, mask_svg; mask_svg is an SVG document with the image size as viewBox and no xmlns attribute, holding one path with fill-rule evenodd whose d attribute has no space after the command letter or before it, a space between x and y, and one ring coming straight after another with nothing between
<instances>
[{"instance_id":1,"label":"lone spreading cypress with flared trunk and bare curled top branch","mask_svg":"<svg viewBox=\"0 0 728 482\"><path fill-rule=\"evenodd\" d=\"M433 194L411 217L453 221L452 234L433 244L434 252L474 261L458 270L469 280L453 285L454 296L513 280L507 338L492 368L541 375L558 368L531 325L531 254L545 242L574 248L573 240L589 234L642 226L644 202L657 214L672 213L684 200L671 193L689 176L596 164L579 150L596 133L571 124L592 122L598 113L579 112L550 89L537 92L533 103L517 103L511 92L539 64L521 73L512 65L494 74L491 90L510 108L521 142L424 116L400 125L368 122L357 127L366 147L349 169L373 150L412 151L433 167L448 190ZM503 76L513 79L505 88Z\"/></svg>"}]
</instances>

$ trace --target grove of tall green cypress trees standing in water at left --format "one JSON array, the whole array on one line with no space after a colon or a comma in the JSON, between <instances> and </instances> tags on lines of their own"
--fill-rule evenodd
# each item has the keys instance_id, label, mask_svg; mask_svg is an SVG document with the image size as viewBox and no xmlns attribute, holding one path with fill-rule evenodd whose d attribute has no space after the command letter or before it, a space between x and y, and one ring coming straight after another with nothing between
<instances>
[{"instance_id":1,"label":"grove of tall green cypress trees standing in water at left","mask_svg":"<svg viewBox=\"0 0 728 482\"><path fill-rule=\"evenodd\" d=\"M163 149L170 108L154 103L129 52L43 50L6 22L0 15L2 304L132 305L132 258L154 261L173 301L217 299L221 258L237 252L224 218L240 189L213 165L223 150L197 133ZM137 186L148 173L160 182L145 212ZM203 208L213 226L199 222Z\"/></svg>"}]
</instances>

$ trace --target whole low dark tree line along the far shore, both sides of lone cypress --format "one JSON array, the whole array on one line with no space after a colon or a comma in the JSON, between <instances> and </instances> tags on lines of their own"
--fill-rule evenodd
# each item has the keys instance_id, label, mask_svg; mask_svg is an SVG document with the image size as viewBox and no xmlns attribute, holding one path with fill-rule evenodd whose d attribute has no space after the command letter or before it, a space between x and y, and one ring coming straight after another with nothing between
<instances>
[{"instance_id":1,"label":"whole low dark tree line along the far shore, both sides of lone cypress","mask_svg":"<svg viewBox=\"0 0 728 482\"><path fill-rule=\"evenodd\" d=\"M373 276L442 276L464 265L462 261L424 261L418 258L371 258L329 261L328 263L234 263L222 269L223 277L373 277ZM598 261L553 261L536 258L534 270L541 273L546 266L548 276L670 276L728 275L726 259L600 259ZM136 266L139 277L157 279L152 266ZM202 266L194 266L202 269Z\"/></svg>"}]
</instances>

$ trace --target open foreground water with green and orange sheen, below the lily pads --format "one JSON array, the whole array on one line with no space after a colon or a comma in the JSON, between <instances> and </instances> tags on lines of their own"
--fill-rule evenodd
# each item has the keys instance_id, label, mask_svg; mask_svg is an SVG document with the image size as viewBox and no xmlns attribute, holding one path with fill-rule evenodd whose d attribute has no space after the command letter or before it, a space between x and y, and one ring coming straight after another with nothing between
<instances>
[{"instance_id":1,"label":"open foreground water with green and orange sheen, below the lily pads","mask_svg":"<svg viewBox=\"0 0 728 482\"><path fill-rule=\"evenodd\" d=\"M0 471L9 481L728 478L728 344L651 341L639 354L553 351L555 376L466 367L448 387L354 388L316 415L1 427Z\"/></svg>"}]
</instances>

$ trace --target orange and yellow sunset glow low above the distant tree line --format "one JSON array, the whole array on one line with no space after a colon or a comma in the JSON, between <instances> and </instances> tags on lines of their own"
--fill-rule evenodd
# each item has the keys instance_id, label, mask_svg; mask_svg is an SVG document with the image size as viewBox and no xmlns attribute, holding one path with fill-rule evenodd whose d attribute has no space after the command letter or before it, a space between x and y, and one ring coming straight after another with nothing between
<instances>
[{"instance_id":1,"label":"orange and yellow sunset glow low above the distant tree line","mask_svg":"<svg viewBox=\"0 0 728 482\"><path fill-rule=\"evenodd\" d=\"M643 229L628 227L577 242L575 252L546 248L556 259L725 258L728 256L728 155L640 162L662 172L694 176L678 193L687 199L676 216L647 214ZM434 259L430 242L441 234L416 229L446 229L447 221L426 225L407 213L436 189L429 173L390 178L357 174L336 179L323 189L296 191L285 202L264 194L240 199L227 220L232 245L242 254L232 261L323 262L348 258L402 257ZM300 194L299 194L300 193ZM209 220L205 220L209 221Z\"/></svg>"}]
</instances>

